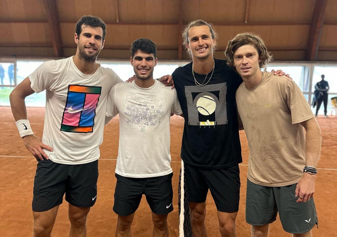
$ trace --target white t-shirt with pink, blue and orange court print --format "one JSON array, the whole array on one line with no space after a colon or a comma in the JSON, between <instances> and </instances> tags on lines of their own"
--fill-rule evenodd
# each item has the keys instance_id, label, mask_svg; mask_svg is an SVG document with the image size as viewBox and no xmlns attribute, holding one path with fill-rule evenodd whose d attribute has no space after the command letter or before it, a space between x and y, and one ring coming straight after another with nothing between
<instances>
[{"instance_id":1,"label":"white t-shirt with pink, blue and orange court print","mask_svg":"<svg viewBox=\"0 0 337 237\"><path fill-rule=\"evenodd\" d=\"M44 149L49 158L70 165L97 160L108 93L123 81L102 66L85 75L72 57L43 63L29 80L36 93L46 90L42 142L54 149Z\"/></svg>"}]
</instances>

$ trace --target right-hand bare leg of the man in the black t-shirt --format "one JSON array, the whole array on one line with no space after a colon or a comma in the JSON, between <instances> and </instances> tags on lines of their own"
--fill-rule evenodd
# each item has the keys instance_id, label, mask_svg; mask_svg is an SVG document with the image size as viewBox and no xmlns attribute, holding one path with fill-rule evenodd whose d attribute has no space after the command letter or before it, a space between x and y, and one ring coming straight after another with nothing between
<instances>
[{"instance_id":1,"label":"right-hand bare leg of the man in the black t-shirt","mask_svg":"<svg viewBox=\"0 0 337 237\"><path fill-rule=\"evenodd\" d=\"M238 212L218 211L219 229L222 237L235 237L235 218Z\"/></svg>"}]
</instances>

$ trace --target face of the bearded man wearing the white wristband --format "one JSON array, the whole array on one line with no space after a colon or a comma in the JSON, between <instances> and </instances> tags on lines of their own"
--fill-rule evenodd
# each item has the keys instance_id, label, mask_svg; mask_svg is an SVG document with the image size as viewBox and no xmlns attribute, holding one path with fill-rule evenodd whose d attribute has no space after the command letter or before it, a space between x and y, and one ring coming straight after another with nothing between
<instances>
[{"instance_id":1,"label":"face of the bearded man wearing the white wristband","mask_svg":"<svg viewBox=\"0 0 337 237\"><path fill-rule=\"evenodd\" d=\"M93 62L96 60L98 54L104 46L102 40L103 30L101 27L92 27L82 25L80 35L75 33L75 42L77 44L77 52L80 59L86 62Z\"/></svg>"}]
</instances>

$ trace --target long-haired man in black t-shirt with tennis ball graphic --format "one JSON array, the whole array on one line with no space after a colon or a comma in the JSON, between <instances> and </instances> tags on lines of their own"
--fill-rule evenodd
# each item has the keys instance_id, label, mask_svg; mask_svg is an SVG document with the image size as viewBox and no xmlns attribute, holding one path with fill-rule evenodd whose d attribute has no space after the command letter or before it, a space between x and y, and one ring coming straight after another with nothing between
<instances>
[{"instance_id":1,"label":"long-haired man in black t-shirt with tennis ball graphic","mask_svg":"<svg viewBox=\"0 0 337 237\"><path fill-rule=\"evenodd\" d=\"M207 236L208 189L221 235L236 236L242 156L235 92L242 79L225 60L213 58L216 37L202 20L187 24L183 39L193 61L172 74L185 119L181 158L193 236Z\"/></svg>"}]
</instances>

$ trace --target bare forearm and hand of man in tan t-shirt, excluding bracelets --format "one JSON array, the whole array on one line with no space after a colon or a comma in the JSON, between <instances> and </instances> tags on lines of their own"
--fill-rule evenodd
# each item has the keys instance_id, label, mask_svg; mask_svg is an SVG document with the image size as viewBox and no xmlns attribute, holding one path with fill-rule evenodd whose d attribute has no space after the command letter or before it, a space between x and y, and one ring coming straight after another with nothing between
<instances>
[{"instance_id":1,"label":"bare forearm and hand of man in tan t-shirt, excluding bracelets","mask_svg":"<svg viewBox=\"0 0 337 237\"><path fill-rule=\"evenodd\" d=\"M304 121L301 125L307 132L305 140L305 166L316 167L321 147L320 128L315 118ZM296 202L306 202L314 196L315 177L316 175L303 173L302 178L296 186L295 194L296 197L299 197Z\"/></svg>"}]
</instances>

